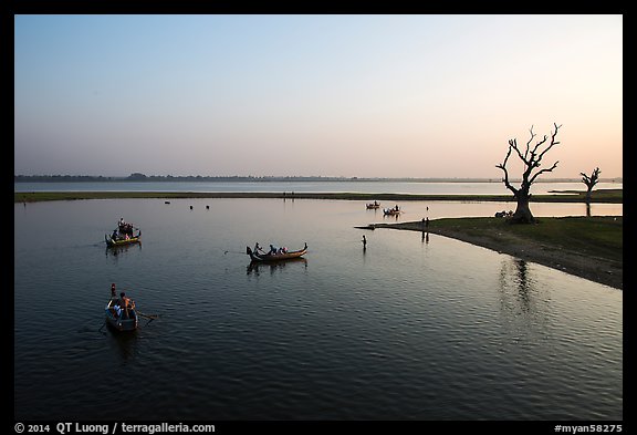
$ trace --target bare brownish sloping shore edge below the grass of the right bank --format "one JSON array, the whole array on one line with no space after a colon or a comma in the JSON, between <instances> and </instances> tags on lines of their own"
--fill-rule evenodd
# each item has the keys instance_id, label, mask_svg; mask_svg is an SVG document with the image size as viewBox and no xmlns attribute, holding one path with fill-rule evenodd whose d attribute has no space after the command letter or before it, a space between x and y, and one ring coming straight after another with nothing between
<instances>
[{"instance_id":1,"label":"bare brownish sloping shore edge below the grass of the right bank","mask_svg":"<svg viewBox=\"0 0 637 435\"><path fill-rule=\"evenodd\" d=\"M422 222L375 224L375 228L422 231ZM591 281L599 282L616 289L624 289L624 266L617 261L585 256L567 249L556 249L511 234L480 235L467 234L456 228L436 228L430 222L428 232L438 234L472 245L481 246L500 253L518 257L525 261L536 262Z\"/></svg>"}]
</instances>

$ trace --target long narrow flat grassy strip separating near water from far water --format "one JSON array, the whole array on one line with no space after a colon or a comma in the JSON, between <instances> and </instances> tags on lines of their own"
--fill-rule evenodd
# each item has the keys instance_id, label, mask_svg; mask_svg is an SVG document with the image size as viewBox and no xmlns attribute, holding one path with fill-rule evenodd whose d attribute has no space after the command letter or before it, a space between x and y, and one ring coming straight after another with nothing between
<instances>
[{"instance_id":1,"label":"long narrow flat grassy strip separating near water from far water","mask_svg":"<svg viewBox=\"0 0 637 435\"><path fill-rule=\"evenodd\" d=\"M460 200L460 201L511 201L512 195L411 195L411 194L361 194L361 193L238 193L238 191L27 191L14 193L13 203L45 200L116 199L116 198L276 198L276 199L342 199L342 200ZM584 191L561 195L535 195L534 203L584 203ZM601 189L593 194L593 203L622 204L623 189Z\"/></svg>"}]
</instances>

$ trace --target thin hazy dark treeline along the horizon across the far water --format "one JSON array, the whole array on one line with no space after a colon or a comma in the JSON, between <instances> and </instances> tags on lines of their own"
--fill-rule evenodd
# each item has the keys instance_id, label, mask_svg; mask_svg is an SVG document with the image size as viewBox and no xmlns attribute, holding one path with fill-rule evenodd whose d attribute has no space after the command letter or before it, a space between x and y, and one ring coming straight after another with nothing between
<instances>
[{"instance_id":1,"label":"thin hazy dark treeline along the horizon across the far water","mask_svg":"<svg viewBox=\"0 0 637 435\"><path fill-rule=\"evenodd\" d=\"M622 178L601 179L606 183L623 183ZM409 182L409 183L502 183L500 178L364 178L323 176L201 176L201 175L144 175L134 173L127 177L102 175L14 175L14 183L100 183L100 182ZM537 183L577 183L579 178L539 179Z\"/></svg>"}]
</instances>

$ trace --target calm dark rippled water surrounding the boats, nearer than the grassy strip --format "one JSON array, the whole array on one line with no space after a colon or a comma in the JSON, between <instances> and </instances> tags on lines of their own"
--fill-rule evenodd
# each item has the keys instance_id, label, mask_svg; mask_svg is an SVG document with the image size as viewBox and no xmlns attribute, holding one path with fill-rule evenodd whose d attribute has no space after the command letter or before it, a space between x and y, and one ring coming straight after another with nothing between
<instances>
[{"instance_id":1,"label":"calm dark rippled water surrounding the boats, nearer than the grassy strip","mask_svg":"<svg viewBox=\"0 0 637 435\"><path fill-rule=\"evenodd\" d=\"M406 203L399 219L509 208ZM121 217L143 244L107 250ZM434 234L354 228L379 221L364 201L15 204L15 418L623 420L620 290ZM310 250L250 267L255 241ZM159 319L104 327L112 282Z\"/></svg>"}]
</instances>

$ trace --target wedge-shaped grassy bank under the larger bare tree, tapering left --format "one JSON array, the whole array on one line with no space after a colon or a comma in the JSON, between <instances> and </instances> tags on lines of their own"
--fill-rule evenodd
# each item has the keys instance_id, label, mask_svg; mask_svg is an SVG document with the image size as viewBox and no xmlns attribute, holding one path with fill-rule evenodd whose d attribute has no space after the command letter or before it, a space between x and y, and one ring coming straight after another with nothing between
<instances>
[{"instance_id":1,"label":"wedge-shaped grassy bank under the larger bare tree, tapering left","mask_svg":"<svg viewBox=\"0 0 637 435\"><path fill-rule=\"evenodd\" d=\"M422 231L422 222L376 224L375 228ZM540 218L510 225L503 218L445 218L427 231L468 241L615 288L623 288L624 218Z\"/></svg>"}]
</instances>

